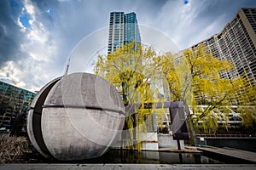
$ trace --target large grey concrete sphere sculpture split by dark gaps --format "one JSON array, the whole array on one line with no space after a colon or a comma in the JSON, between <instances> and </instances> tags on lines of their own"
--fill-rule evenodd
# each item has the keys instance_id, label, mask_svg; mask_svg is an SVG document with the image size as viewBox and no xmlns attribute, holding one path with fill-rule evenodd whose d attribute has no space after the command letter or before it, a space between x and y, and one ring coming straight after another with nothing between
<instances>
[{"instance_id":1,"label":"large grey concrete sphere sculpture split by dark gaps","mask_svg":"<svg viewBox=\"0 0 256 170\"><path fill-rule=\"evenodd\" d=\"M32 101L27 131L43 156L74 161L102 156L125 122L118 91L102 77L73 73L44 86Z\"/></svg>"}]
</instances>

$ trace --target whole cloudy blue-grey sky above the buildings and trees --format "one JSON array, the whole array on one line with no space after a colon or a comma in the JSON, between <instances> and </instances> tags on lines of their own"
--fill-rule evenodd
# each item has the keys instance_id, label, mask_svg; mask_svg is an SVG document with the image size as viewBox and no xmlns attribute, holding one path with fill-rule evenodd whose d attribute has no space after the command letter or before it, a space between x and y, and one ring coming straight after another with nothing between
<instances>
[{"instance_id":1,"label":"whole cloudy blue-grey sky above the buildings and trees","mask_svg":"<svg viewBox=\"0 0 256 170\"><path fill-rule=\"evenodd\" d=\"M166 52L212 37L240 8L256 1L0 0L0 81L38 91L64 74L68 60L73 72L87 71L107 53L113 11L135 12L142 41Z\"/></svg>"}]
</instances>

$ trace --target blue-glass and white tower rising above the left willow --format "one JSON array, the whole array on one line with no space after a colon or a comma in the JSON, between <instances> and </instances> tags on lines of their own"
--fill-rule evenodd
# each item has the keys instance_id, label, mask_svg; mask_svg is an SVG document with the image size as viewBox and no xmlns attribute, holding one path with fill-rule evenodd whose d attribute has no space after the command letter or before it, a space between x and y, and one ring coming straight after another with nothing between
<instances>
[{"instance_id":1,"label":"blue-glass and white tower rising above the left willow","mask_svg":"<svg viewBox=\"0 0 256 170\"><path fill-rule=\"evenodd\" d=\"M135 13L110 13L108 33L108 54L125 43L141 42Z\"/></svg>"}]
</instances>

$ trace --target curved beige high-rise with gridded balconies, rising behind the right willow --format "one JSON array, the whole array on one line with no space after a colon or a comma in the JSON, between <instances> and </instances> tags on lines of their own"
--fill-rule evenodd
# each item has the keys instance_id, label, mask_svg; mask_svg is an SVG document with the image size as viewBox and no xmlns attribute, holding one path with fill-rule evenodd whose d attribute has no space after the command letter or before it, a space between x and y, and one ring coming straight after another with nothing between
<instances>
[{"instance_id":1,"label":"curved beige high-rise with gridded balconies, rising behind the right willow","mask_svg":"<svg viewBox=\"0 0 256 170\"><path fill-rule=\"evenodd\" d=\"M247 86L256 85L256 8L241 8L236 16L218 34L199 42L218 59L235 64L235 70L221 77L240 75Z\"/></svg>"}]
</instances>

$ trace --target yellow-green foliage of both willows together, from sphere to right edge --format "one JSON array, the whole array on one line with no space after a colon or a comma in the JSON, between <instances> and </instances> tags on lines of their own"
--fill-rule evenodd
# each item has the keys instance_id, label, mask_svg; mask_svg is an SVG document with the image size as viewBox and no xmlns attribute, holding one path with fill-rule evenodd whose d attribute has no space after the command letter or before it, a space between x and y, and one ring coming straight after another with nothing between
<instances>
[{"instance_id":1,"label":"yellow-green foliage of both willows together, from sphere to right edge","mask_svg":"<svg viewBox=\"0 0 256 170\"><path fill-rule=\"evenodd\" d=\"M250 127L255 122L255 88L247 88L242 77L229 79L233 64L219 60L203 45L183 51L183 55L157 55L153 48L145 48L132 42L117 48L108 56L98 56L94 71L118 89L125 105L134 105L134 118L128 116L126 123L133 144L133 133L139 141L139 133L145 132L144 116L157 113L159 120L165 119L165 110L144 109L148 103L162 102L159 89L166 85L171 101L186 101L193 115L189 117L195 127L216 133L218 121L228 122L230 105L241 111L243 124ZM198 105L204 105L199 108ZM245 105L249 105L245 107ZM201 122L199 124L199 122ZM192 127L189 127L192 129ZM141 145L137 144L137 148Z\"/></svg>"}]
</instances>

